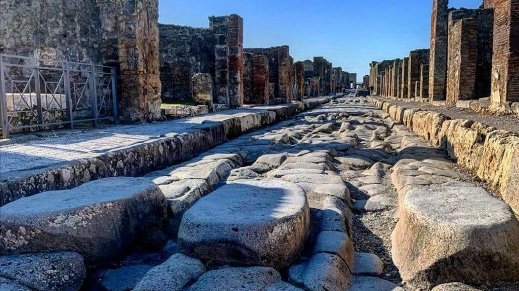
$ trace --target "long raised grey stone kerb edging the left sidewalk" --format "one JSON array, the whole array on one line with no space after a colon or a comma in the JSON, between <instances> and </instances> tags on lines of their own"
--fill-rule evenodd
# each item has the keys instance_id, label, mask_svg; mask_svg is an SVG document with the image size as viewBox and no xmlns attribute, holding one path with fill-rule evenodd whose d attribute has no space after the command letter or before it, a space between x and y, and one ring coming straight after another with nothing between
<instances>
[{"instance_id":1,"label":"long raised grey stone kerb edging the left sidewalk","mask_svg":"<svg viewBox=\"0 0 519 291\"><path fill-rule=\"evenodd\" d=\"M328 103L337 97L339 96L323 96L291 104L258 106L254 107L253 110L238 111L236 114L209 115L207 119L199 120L198 124L192 126L184 124L184 127L180 130L179 128L172 128L169 133L163 133L155 138L148 138L127 147L104 150L98 153L90 151L80 156L83 158L44 164L32 169L28 169L24 165L23 170L2 173L0 206L44 191L70 189L92 180L107 177L143 176L146 173L186 161L225 141L285 120L298 112ZM198 117L198 119L201 118L203 116ZM179 122L182 121L179 120ZM156 123L156 125L161 126L161 123ZM149 126L154 126L154 124ZM68 140L66 144L59 144L58 146L64 148L63 152L65 153L67 152L67 146L74 142L80 141ZM49 144L52 144L50 139L42 146L41 150L45 150L45 147L48 147ZM13 145L9 144L8 146ZM30 145L28 148L34 149L35 147L38 150L37 145ZM57 148L60 149L60 147ZM7 157L5 152L4 157ZM9 161L9 163L20 162L14 161L16 158L11 159L13 161Z\"/></svg>"}]
</instances>

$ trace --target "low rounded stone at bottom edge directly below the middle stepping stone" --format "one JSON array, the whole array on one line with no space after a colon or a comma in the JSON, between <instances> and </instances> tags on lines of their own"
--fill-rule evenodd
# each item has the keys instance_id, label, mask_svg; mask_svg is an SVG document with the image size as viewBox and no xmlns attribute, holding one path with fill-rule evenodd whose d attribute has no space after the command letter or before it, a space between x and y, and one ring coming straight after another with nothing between
<instances>
[{"instance_id":1,"label":"low rounded stone at bottom edge directly below the middle stepping stone","mask_svg":"<svg viewBox=\"0 0 519 291\"><path fill-rule=\"evenodd\" d=\"M283 282L278 271L268 267L225 268L209 271L187 291L303 291Z\"/></svg>"}]
</instances>

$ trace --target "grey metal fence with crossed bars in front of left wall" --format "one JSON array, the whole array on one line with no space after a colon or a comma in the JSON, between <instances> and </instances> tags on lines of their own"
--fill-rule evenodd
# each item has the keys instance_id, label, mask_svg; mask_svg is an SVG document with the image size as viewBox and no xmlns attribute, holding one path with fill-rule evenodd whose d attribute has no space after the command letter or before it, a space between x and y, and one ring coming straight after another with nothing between
<instances>
[{"instance_id":1,"label":"grey metal fence with crossed bars in front of left wall","mask_svg":"<svg viewBox=\"0 0 519 291\"><path fill-rule=\"evenodd\" d=\"M118 123L114 67L0 54L0 117L13 131Z\"/></svg>"}]
</instances>

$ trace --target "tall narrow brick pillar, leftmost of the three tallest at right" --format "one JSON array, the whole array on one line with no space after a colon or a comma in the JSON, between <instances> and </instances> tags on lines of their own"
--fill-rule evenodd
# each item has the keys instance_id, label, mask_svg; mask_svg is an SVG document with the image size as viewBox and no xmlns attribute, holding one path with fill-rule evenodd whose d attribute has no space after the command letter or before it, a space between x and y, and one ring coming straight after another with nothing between
<instances>
[{"instance_id":1,"label":"tall narrow brick pillar, leftmost of the three tallest at right","mask_svg":"<svg viewBox=\"0 0 519 291\"><path fill-rule=\"evenodd\" d=\"M445 99L447 76L448 0L434 0L431 18L431 51L429 59L429 98ZM422 96L426 98L426 96Z\"/></svg>"}]
</instances>

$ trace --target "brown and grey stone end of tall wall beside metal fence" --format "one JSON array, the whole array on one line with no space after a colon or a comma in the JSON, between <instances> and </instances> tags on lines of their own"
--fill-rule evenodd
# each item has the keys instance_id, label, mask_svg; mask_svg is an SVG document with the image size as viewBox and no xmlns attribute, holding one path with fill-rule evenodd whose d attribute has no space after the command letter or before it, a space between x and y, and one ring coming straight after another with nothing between
<instances>
[{"instance_id":1,"label":"brown and grey stone end of tall wall beside metal fence","mask_svg":"<svg viewBox=\"0 0 519 291\"><path fill-rule=\"evenodd\" d=\"M103 38L101 53L108 65L119 68L121 119L159 120L158 0L127 1L124 5L97 0L97 5Z\"/></svg>"}]
</instances>

